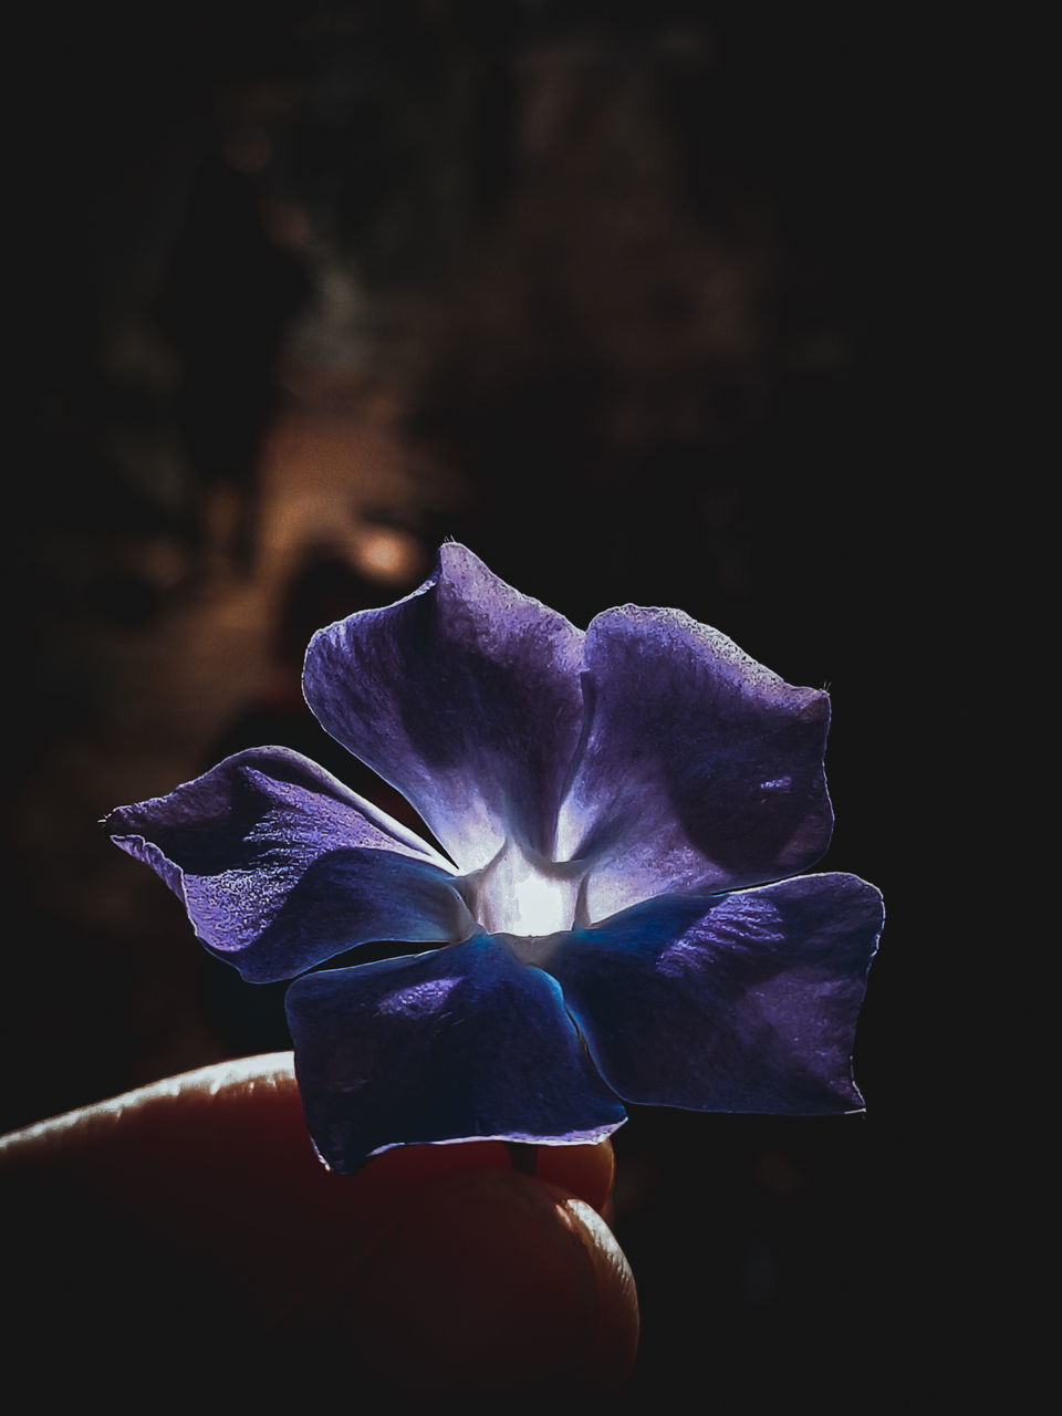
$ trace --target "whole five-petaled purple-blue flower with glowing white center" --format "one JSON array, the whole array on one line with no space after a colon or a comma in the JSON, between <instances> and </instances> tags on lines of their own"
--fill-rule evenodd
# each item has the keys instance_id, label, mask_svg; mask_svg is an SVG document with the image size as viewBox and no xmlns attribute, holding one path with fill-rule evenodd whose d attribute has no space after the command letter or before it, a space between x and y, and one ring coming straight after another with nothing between
<instances>
[{"instance_id":1,"label":"whole five-petaled purple-blue flower with glowing white center","mask_svg":"<svg viewBox=\"0 0 1062 1416\"><path fill-rule=\"evenodd\" d=\"M678 610L626 605L582 632L456 544L412 595L320 630L303 684L446 854L285 748L106 827L212 954L296 980L327 1165L598 1140L624 1100L862 1106L851 1052L881 895L796 874L833 828L826 692ZM316 967L378 942L442 947Z\"/></svg>"}]
</instances>

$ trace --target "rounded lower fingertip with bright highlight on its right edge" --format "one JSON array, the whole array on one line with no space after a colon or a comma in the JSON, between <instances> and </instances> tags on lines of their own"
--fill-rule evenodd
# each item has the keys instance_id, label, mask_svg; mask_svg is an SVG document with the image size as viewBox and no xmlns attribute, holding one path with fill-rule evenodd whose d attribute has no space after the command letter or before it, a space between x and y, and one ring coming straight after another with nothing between
<instances>
[{"instance_id":1,"label":"rounded lower fingertip with bright highlight on its right edge","mask_svg":"<svg viewBox=\"0 0 1062 1416\"><path fill-rule=\"evenodd\" d=\"M312 1332L381 1388L620 1389L634 1362L623 1252L590 1205L532 1175L443 1177L336 1272L280 1331Z\"/></svg>"}]
</instances>

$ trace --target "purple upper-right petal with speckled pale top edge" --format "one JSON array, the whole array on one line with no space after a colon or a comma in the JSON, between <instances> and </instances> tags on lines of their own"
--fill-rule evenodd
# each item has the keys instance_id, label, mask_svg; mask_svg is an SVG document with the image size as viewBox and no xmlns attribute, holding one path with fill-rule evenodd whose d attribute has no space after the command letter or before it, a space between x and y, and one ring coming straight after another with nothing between
<instances>
[{"instance_id":1,"label":"purple upper-right petal with speckled pale top edge","mask_svg":"<svg viewBox=\"0 0 1062 1416\"><path fill-rule=\"evenodd\" d=\"M827 694L680 610L636 606L590 624L583 692L558 858L593 862L590 922L671 891L794 875L826 850Z\"/></svg>"}]
</instances>

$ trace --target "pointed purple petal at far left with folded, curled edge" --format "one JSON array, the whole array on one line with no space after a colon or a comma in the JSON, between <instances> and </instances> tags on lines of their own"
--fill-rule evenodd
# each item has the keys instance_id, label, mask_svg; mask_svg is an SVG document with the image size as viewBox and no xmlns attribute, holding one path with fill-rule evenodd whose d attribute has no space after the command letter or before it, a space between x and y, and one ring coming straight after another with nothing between
<instances>
[{"instance_id":1,"label":"pointed purple petal at far left with folded, curled edge","mask_svg":"<svg viewBox=\"0 0 1062 1416\"><path fill-rule=\"evenodd\" d=\"M286 748L238 752L105 826L251 983L370 940L445 943L473 929L449 862Z\"/></svg>"}]
</instances>

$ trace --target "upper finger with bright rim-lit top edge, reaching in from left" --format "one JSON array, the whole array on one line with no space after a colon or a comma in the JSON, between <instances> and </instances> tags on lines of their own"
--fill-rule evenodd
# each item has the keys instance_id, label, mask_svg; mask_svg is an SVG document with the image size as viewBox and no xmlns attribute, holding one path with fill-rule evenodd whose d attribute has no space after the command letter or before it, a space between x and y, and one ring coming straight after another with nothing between
<instances>
[{"instance_id":1,"label":"upper finger with bright rim-lit top edge, reaching in from left","mask_svg":"<svg viewBox=\"0 0 1062 1416\"><path fill-rule=\"evenodd\" d=\"M290 1054L184 1073L0 1141L8 1175L48 1174L50 1194L68 1194L86 1214L99 1201L112 1221L120 1214L202 1250L266 1325L334 1272L337 1242L357 1266L425 1187L511 1164L500 1141L409 1146L336 1175L306 1133ZM607 1141L537 1147L531 1164L590 1206L607 1205Z\"/></svg>"}]
</instances>

